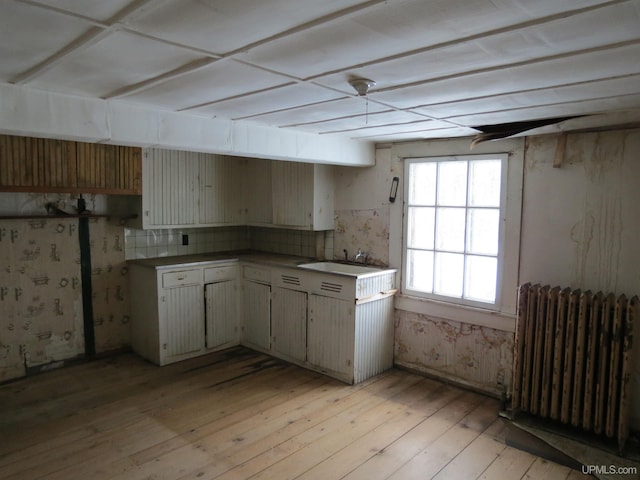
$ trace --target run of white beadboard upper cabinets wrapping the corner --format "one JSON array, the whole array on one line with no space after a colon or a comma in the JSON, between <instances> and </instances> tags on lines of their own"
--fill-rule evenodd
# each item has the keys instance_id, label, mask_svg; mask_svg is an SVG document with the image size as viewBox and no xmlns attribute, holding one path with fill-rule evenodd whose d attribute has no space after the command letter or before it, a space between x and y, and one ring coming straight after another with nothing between
<instances>
[{"instance_id":1,"label":"run of white beadboard upper cabinets wrapping the corner","mask_svg":"<svg viewBox=\"0 0 640 480\"><path fill-rule=\"evenodd\" d=\"M333 229L333 167L157 148L142 156L134 228ZM131 198L131 197L129 197ZM128 214L131 200L112 202Z\"/></svg>"}]
</instances>

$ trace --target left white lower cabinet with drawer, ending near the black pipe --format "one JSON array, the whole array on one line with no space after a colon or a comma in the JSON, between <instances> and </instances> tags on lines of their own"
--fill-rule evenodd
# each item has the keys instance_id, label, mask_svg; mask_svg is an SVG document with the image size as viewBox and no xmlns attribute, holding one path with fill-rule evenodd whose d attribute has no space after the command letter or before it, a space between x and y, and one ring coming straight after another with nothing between
<instances>
[{"instance_id":1,"label":"left white lower cabinet with drawer, ending near the black pipe","mask_svg":"<svg viewBox=\"0 0 640 480\"><path fill-rule=\"evenodd\" d=\"M131 346L140 356L166 365L239 343L237 265L133 263L130 275Z\"/></svg>"}]
</instances>

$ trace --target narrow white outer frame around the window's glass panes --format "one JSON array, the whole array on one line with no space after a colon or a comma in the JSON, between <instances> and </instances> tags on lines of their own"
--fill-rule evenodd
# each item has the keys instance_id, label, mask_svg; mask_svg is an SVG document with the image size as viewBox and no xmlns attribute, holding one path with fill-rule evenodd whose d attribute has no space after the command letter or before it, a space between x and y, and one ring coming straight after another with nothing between
<instances>
[{"instance_id":1,"label":"narrow white outer frame around the window's glass panes","mask_svg":"<svg viewBox=\"0 0 640 480\"><path fill-rule=\"evenodd\" d=\"M437 294L437 293L431 293L431 292L425 292L425 291L421 291L421 290L413 290L411 288L409 288L408 286L408 281L407 281L407 273L408 273L408 268L407 268L407 261L408 261L408 251L409 250L414 250L408 247L408 224L409 224L409 216L408 216L408 212L409 212L409 208L411 207L409 205L409 188L405 188L404 190L404 206L403 206L403 250L402 250L402 292L407 294L407 295L412 295L412 296L416 296L416 297L423 297L423 298L428 298L428 299L433 299L433 300L438 300L438 301L442 301L442 302L447 302L447 303L453 303L453 304L459 304L459 305L468 305L468 306L474 306L474 307L479 307L479 308L484 308L484 309L488 309L488 310L500 310L500 306L501 306L501 292L502 292L502 271L504 268L504 224L506 222L506 217L505 217L505 202L506 202L506 182L507 182L507 169L508 169L508 155L505 153L497 153L497 154L477 154L477 155L453 155L453 156L438 156L438 157L418 157L418 158L410 158L410 159L406 159L405 161L405 182L407 185L410 184L410 180L409 180L409 175L410 175L410 169L411 169L411 165L414 164L420 164L420 163L436 163L436 164L442 164L445 162L454 162L454 161L465 161L465 162L471 162L471 161L477 161L477 160L500 160L501 162L501 170L500 170L500 205L498 207L498 211L499 211L499 219L500 219L500 225L499 225L499 234L498 234L498 253L497 255L495 255L494 258L496 258L497 260L497 270L496 270L496 296L494 299L494 302L482 302L482 301L477 301L477 300L472 300L469 298L464 298L464 296L461 297L452 297L452 296L448 296L448 295L442 295L442 294ZM468 164L467 164L468 165ZM469 169L467 169L467 180L468 180L468 175L469 175ZM467 184L468 185L468 184ZM468 195L468 189L467 189L467 195ZM434 207L437 206L437 201L436 201L436 205L434 205ZM462 208L462 207L461 207ZM468 211L470 208L469 204L468 204L468 198L465 202L464 205L464 210L466 212L466 214L468 214ZM465 215L466 216L466 215ZM465 234L465 244L466 244L466 234ZM435 245L434 245L434 253L437 252L438 250L436 249ZM469 252L465 250L462 252L462 254L464 255L465 259L467 258L468 255L471 255ZM466 262L465 262L466 263ZM464 275L464 273L463 273ZM464 283L464 281L463 281Z\"/></svg>"}]
</instances>

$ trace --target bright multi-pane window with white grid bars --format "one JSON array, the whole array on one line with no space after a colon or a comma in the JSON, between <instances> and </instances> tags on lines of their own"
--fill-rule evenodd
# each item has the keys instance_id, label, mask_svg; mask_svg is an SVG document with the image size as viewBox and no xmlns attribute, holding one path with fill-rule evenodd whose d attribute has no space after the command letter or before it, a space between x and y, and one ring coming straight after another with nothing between
<instances>
[{"instance_id":1,"label":"bright multi-pane window with white grid bars","mask_svg":"<svg viewBox=\"0 0 640 480\"><path fill-rule=\"evenodd\" d=\"M409 159L404 291L499 304L507 155Z\"/></svg>"}]
</instances>

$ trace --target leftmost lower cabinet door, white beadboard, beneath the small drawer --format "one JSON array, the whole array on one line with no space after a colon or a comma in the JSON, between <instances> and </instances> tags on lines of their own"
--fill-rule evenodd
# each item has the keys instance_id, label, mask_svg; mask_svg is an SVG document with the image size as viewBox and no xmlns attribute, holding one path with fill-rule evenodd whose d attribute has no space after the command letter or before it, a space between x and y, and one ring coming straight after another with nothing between
<instances>
[{"instance_id":1,"label":"leftmost lower cabinet door, white beadboard, beneath the small drawer","mask_svg":"<svg viewBox=\"0 0 640 480\"><path fill-rule=\"evenodd\" d=\"M161 297L160 343L165 357L204 348L204 301L202 286L165 288Z\"/></svg>"}]
</instances>

